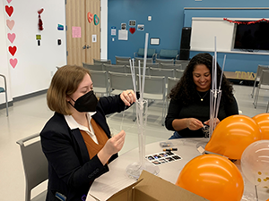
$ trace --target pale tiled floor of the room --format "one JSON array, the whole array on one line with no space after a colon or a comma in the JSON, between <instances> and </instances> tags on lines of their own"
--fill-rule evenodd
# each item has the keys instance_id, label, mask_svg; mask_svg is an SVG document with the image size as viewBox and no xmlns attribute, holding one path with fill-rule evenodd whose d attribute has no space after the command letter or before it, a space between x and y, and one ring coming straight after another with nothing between
<instances>
[{"instance_id":1,"label":"pale tiled floor of the room","mask_svg":"<svg viewBox=\"0 0 269 201\"><path fill-rule=\"evenodd\" d=\"M253 98L250 97L252 87L235 85L235 96L239 103L239 110L243 114L253 117L258 113L265 113L269 101L269 91L262 90L256 109ZM160 102L153 103L148 110L148 123L145 129L146 143L166 140L172 134L161 126ZM39 132L49 117L53 114L46 104L46 95L32 97L15 102L9 108L10 115L5 116L5 109L0 110L0 201L24 200L24 172L20 148L16 141ZM126 130L126 142L119 154L138 147L137 127L133 121L133 110L117 113L108 117L108 124L113 133ZM33 191L35 195L46 184Z\"/></svg>"}]
</instances>

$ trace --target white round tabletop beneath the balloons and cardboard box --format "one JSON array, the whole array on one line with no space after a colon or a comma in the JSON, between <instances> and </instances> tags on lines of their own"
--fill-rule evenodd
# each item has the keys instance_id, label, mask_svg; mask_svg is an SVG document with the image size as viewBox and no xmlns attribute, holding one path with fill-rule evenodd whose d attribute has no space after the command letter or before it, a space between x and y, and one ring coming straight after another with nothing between
<instances>
[{"instance_id":1,"label":"white round tabletop beneath the balloons and cardboard box","mask_svg":"<svg viewBox=\"0 0 269 201\"><path fill-rule=\"evenodd\" d=\"M177 147L178 151L173 151L176 155L182 157L181 160L173 161L170 163L163 163L158 165L160 168L160 173L157 175L164 180L168 180L171 183L176 183L178 180L178 175L182 168L195 156L201 155L197 150L201 144L205 144L207 138L181 138L169 140L173 147ZM160 147L160 142L152 143L146 145L145 155L152 155L162 152L162 147ZM89 195L86 201L95 200L91 197L98 197L100 200L105 200L112 196L114 193L122 188L133 184L136 180L134 178L128 177L126 174L126 167L130 163L139 162L138 148L134 148L131 151L120 155L112 163L108 164L109 172L100 176L100 178L94 180L89 190ZM235 163L240 170L239 162ZM245 180L245 179L244 179ZM245 180L245 191L242 197L242 201L256 201L255 198L255 188L250 182ZM269 190L266 191L265 188L258 190L259 201L265 201L269 198Z\"/></svg>"}]
</instances>

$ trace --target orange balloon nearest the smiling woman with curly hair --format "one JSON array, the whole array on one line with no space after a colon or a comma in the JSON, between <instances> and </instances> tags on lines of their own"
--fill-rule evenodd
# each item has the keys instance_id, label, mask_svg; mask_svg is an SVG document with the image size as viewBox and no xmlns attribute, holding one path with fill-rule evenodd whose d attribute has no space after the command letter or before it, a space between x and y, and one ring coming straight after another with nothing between
<instances>
[{"instance_id":1,"label":"orange balloon nearest the smiling woman with curly hair","mask_svg":"<svg viewBox=\"0 0 269 201\"><path fill-rule=\"evenodd\" d=\"M225 118L216 126L204 149L230 159L240 159L245 148L261 138L256 121L237 114Z\"/></svg>"}]
</instances>

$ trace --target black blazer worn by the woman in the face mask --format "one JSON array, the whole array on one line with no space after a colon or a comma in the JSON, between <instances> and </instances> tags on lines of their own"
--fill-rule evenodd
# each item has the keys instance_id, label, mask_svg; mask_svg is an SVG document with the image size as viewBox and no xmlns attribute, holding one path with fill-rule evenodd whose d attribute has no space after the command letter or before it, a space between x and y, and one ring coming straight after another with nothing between
<instances>
[{"instance_id":1,"label":"black blazer worn by the woman in the face mask","mask_svg":"<svg viewBox=\"0 0 269 201\"><path fill-rule=\"evenodd\" d=\"M119 113L125 109L119 96L100 97L97 113L92 118L106 132L110 130L106 114ZM64 195L66 201L84 200L93 180L108 172L108 165L102 165L95 155L91 160L79 129L70 130L63 114L55 113L40 133L41 145L48 159L47 201L59 201L56 192ZM109 163L117 158L112 155Z\"/></svg>"}]
</instances>

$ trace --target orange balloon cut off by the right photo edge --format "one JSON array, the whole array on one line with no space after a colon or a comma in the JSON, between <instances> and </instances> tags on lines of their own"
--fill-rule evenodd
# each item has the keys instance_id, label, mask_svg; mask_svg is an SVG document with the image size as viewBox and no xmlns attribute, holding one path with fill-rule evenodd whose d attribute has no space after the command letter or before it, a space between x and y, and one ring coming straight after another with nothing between
<instances>
[{"instance_id":1,"label":"orange balloon cut off by the right photo edge","mask_svg":"<svg viewBox=\"0 0 269 201\"><path fill-rule=\"evenodd\" d=\"M252 119L258 124L262 132L262 139L269 139L269 113L257 114Z\"/></svg>"}]
</instances>

